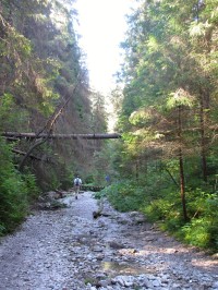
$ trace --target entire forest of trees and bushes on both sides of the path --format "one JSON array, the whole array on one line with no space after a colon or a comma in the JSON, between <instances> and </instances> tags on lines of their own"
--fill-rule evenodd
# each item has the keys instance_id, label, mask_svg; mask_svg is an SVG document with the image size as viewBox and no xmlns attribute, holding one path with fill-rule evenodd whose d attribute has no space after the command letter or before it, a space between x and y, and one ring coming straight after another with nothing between
<instances>
[{"instance_id":1,"label":"entire forest of trees and bushes on both sides of the path","mask_svg":"<svg viewBox=\"0 0 218 290\"><path fill-rule=\"evenodd\" d=\"M1 234L41 192L68 190L80 173L85 184L105 186L97 197L118 210L140 210L183 242L217 251L218 1L136 2L118 85L107 96L122 137L106 141L51 137L108 131L74 1L1 1Z\"/></svg>"}]
</instances>

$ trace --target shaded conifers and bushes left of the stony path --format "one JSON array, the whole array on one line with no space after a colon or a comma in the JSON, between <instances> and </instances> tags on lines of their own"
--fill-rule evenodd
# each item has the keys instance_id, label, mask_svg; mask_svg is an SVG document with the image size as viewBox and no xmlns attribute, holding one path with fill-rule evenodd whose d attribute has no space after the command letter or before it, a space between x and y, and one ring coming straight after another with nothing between
<instances>
[{"instance_id":1,"label":"shaded conifers and bushes left of the stony path","mask_svg":"<svg viewBox=\"0 0 218 290\"><path fill-rule=\"evenodd\" d=\"M95 168L100 140L51 138L107 130L76 22L70 0L0 3L0 233L13 230L39 194L72 188L74 174L88 179Z\"/></svg>"}]
</instances>

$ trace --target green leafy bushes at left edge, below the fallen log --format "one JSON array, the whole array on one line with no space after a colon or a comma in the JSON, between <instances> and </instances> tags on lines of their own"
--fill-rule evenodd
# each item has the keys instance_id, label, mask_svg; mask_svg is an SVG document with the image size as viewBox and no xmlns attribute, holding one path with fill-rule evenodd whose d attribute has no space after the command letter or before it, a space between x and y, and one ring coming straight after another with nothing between
<instances>
[{"instance_id":1,"label":"green leafy bushes at left edge, below the fallen log","mask_svg":"<svg viewBox=\"0 0 218 290\"><path fill-rule=\"evenodd\" d=\"M12 231L27 215L38 194L35 178L22 176L12 162L11 148L0 138L0 235Z\"/></svg>"}]
</instances>

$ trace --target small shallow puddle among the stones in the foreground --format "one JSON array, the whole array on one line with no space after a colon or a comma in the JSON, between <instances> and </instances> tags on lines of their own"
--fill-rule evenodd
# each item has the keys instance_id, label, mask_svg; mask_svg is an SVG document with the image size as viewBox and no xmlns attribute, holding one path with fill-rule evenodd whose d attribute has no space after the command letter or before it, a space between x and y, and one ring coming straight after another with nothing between
<instances>
[{"instance_id":1,"label":"small shallow puddle among the stones in the foreground","mask_svg":"<svg viewBox=\"0 0 218 290\"><path fill-rule=\"evenodd\" d=\"M147 269L145 266L134 265L133 263L120 265L116 262L102 262L101 263L102 270L108 271L116 275L142 275L154 273L150 269Z\"/></svg>"}]
</instances>

